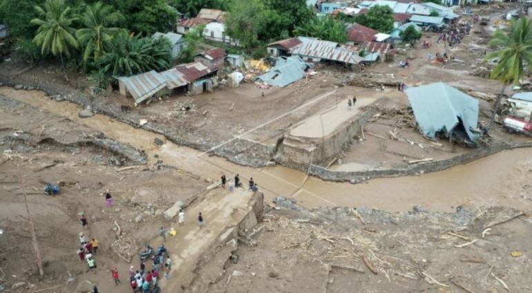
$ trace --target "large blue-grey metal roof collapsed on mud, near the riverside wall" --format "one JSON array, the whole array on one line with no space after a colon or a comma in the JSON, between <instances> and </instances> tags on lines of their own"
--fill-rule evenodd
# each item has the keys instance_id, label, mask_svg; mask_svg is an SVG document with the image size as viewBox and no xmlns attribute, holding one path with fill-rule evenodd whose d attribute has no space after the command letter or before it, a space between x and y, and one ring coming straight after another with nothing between
<instances>
[{"instance_id":1,"label":"large blue-grey metal roof collapsed on mud, near the riverside wall","mask_svg":"<svg viewBox=\"0 0 532 293\"><path fill-rule=\"evenodd\" d=\"M447 136L460 135L461 128L457 126L462 122L465 129L462 134L472 142L477 141L478 135L471 129L477 128L479 103L473 97L443 82L408 88L406 94L417 124L428 137L435 138L439 131Z\"/></svg>"}]
</instances>

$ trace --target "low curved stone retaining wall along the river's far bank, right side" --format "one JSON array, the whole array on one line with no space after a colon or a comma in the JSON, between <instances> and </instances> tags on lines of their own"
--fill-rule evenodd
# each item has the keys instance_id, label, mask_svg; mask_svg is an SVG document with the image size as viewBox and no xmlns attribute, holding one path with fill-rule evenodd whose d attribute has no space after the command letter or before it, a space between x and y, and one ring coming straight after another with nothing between
<instances>
[{"instance_id":1,"label":"low curved stone retaining wall along the river's far bank, right side","mask_svg":"<svg viewBox=\"0 0 532 293\"><path fill-rule=\"evenodd\" d=\"M367 171L334 171L326 169L324 167L313 164L310 167L310 174L312 176L319 177L323 180L328 181L337 181L344 182L350 181L353 183L361 182L370 178L382 178L382 177L398 177L398 176L412 176L429 172L441 171L454 167L457 164L466 164L468 162L473 162L480 158L484 158L488 155L493 155L504 150L518 149L524 147L532 147L532 142L522 142L522 143L509 143L509 142L494 142L491 146L482 147L464 153L462 155L457 155L454 158L447 160L439 160L434 162L426 162L408 166L401 169L374 169Z\"/></svg>"}]
</instances>

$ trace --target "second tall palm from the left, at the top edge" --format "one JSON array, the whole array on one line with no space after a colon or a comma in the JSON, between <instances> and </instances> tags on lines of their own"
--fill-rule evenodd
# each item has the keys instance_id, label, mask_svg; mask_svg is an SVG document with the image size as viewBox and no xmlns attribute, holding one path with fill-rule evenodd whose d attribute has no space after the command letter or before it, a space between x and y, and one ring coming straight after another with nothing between
<instances>
[{"instance_id":1,"label":"second tall palm from the left, at the top edge","mask_svg":"<svg viewBox=\"0 0 532 293\"><path fill-rule=\"evenodd\" d=\"M122 32L120 28L108 28L122 15L119 12L113 12L111 6L96 2L92 6L87 6L87 10L81 17L84 28L76 31L76 37L79 44L85 47L83 61L87 62L91 57L95 62L105 54L105 47L108 46L113 36Z\"/></svg>"}]
</instances>

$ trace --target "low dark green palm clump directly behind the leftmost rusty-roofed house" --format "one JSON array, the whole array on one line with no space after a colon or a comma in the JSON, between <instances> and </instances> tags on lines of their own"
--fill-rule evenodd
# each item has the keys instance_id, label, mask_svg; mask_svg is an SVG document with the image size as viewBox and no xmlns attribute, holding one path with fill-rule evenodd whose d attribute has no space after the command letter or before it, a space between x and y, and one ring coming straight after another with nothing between
<instances>
[{"instance_id":1,"label":"low dark green palm clump directly behind the leftmost rusty-roofed house","mask_svg":"<svg viewBox=\"0 0 532 293\"><path fill-rule=\"evenodd\" d=\"M171 44L166 38L129 37L119 34L99 59L99 68L107 76L120 77L162 71L171 66Z\"/></svg>"}]
</instances>

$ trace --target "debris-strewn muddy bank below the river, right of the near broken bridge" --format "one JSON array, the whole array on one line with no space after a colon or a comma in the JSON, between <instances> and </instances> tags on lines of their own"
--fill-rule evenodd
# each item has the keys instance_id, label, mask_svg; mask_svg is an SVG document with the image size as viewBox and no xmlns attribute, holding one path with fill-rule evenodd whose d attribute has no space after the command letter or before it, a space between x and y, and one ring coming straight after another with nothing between
<instances>
[{"instance_id":1,"label":"debris-strewn muddy bank below the river, right of the near broken bridge","mask_svg":"<svg viewBox=\"0 0 532 293\"><path fill-rule=\"evenodd\" d=\"M238 245L238 262L213 260L189 292L532 290L530 216L511 220L522 212L472 205L416 209L272 209L253 240Z\"/></svg>"}]
</instances>

